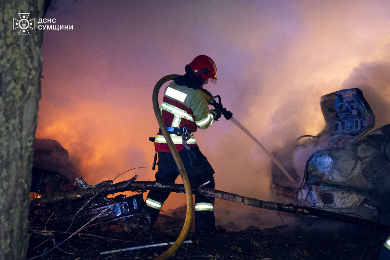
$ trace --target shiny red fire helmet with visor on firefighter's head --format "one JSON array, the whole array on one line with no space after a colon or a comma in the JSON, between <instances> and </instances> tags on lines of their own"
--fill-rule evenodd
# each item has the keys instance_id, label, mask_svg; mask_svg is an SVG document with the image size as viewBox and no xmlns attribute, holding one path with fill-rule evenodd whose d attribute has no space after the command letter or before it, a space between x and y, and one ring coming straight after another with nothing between
<instances>
[{"instance_id":1,"label":"shiny red fire helmet with visor on firefighter's head","mask_svg":"<svg viewBox=\"0 0 390 260\"><path fill-rule=\"evenodd\" d=\"M198 77L202 78L203 82L217 83L217 67L210 57L199 55L188 65Z\"/></svg>"}]
</instances>

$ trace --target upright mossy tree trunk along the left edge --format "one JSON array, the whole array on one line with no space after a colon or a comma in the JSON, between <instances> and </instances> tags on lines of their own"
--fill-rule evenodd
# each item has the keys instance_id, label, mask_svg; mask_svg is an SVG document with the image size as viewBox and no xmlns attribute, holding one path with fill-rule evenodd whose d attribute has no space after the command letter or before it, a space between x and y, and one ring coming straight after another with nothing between
<instances>
[{"instance_id":1,"label":"upright mossy tree trunk along the left edge","mask_svg":"<svg viewBox=\"0 0 390 260\"><path fill-rule=\"evenodd\" d=\"M33 142L40 98L43 32L42 0L0 1L0 259L24 259ZM21 35L14 18L34 20L35 30ZM23 24L22 24L23 26Z\"/></svg>"}]
</instances>

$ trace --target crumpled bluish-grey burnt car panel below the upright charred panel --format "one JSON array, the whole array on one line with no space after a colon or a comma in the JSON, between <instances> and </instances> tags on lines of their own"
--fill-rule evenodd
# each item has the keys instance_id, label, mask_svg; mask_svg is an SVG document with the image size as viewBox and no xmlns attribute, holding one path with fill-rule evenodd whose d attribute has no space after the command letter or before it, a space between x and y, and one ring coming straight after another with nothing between
<instances>
[{"instance_id":1,"label":"crumpled bluish-grey burnt car panel below the upright charred panel","mask_svg":"<svg viewBox=\"0 0 390 260\"><path fill-rule=\"evenodd\" d=\"M351 145L317 150L306 164L306 185L344 186L372 198L390 190L390 124Z\"/></svg>"}]
</instances>

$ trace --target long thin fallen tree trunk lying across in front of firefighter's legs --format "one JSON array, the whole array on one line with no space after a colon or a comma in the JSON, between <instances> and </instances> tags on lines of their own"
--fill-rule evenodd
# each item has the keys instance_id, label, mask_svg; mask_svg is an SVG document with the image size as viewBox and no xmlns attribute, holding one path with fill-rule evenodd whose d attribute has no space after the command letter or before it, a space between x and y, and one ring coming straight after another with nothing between
<instances>
[{"instance_id":1,"label":"long thin fallen tree trunk lying across in front of firefighter's legs","mask_svg":"<svg viewBox=\"0 0 390 260\"><path fill-rule=\"evenodd\" d=\"M35 210L41 207L48 207L50 205L54 205L60 202L81 200L93 196L96 193L100 193L102 195L108 195L117 192L137 191L137 190L158 190L158 191L172 191L176 193L184 193L184 187L182 184L147 182L147 181L132 182L133 179L124 182L118 182L116 184L109 185L105 188L99 187L99 188L85 189L82 191L75 191L72 193L57 193L55 194L55 196L52 196L50 198L35 199L31 201L31 208ZM250 207L257 207L257 208L268 209L268 210L278 210L278 211L289 212L289 213L298 213L307 216L309 215L317 216L321 218L328 218L328 219L333 219L333 220L342 221L346 223L351 223L358 226L390 231L390 226L385 225L383 223L355 218L344 214L331 212L328 210L321 210L321 209L315 209L309 207L296 206L293 204L284 204L284 203L258 200L255 198L248 198L245 196L241 196L241 195L237 195L225 191L219 191L216 189L193 188L192 193L195 195L200 194L208 197L219 198L221 200L227 200L230 202L235 202Z\"/></svg>"}]
</instances>

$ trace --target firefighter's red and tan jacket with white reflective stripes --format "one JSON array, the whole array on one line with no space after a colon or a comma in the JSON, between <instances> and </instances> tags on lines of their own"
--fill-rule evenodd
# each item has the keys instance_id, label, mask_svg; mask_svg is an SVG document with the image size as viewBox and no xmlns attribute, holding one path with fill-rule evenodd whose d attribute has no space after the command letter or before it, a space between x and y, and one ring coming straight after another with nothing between
<instances>
[{"instance_id":1,"label":"firefighter's red and tan jacket with white reflective stripes","mask_svg":"<svg viewBox=\"0 0 390 260\"><path fill-rule=\"evenodd\" d=\"M196 132L198 127L206 129L213 124L216 117L216 112L209 110L200 88L179 86L174 81L165 88L160 109L167 127L185 126L192 133ZM182 136L176 134L170 134L170 136L177 152L183 150ZM187 145L197 146L193 136L187 141ZM154 147L156 152L170 152L161 130L156 136Z\"/></svg>"}]
</instances>

